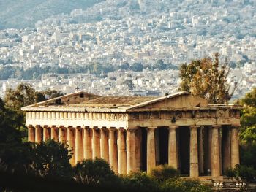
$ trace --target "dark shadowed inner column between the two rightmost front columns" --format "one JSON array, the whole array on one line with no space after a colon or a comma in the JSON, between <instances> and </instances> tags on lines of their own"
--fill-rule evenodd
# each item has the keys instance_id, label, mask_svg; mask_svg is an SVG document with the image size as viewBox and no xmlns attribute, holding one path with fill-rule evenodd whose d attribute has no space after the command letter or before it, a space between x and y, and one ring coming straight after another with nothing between
<instances>
[{"instance_id":1,"label":"dark shadowed inner column between the two rightmost front columns","mask_svg":"<svg viewBox=\"0 0 256 192\"><path fill-rule=\"evenodd\" d=\"M223 164L223 170L231 168L231 143L230 143L230 127L224 126L222 128L222 164Z\"/></svg>"}]
</instances>

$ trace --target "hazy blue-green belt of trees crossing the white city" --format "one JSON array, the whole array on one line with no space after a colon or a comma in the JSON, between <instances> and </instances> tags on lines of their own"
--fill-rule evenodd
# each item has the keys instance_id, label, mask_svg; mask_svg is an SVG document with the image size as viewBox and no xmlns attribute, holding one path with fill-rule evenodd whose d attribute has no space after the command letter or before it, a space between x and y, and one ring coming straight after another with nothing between
<instances>
[{"instance_id":1,"label":"hazy blue-green belt of trees crossing the white city","mask_svg":"<svg viewBox=\"0 0 256 192\"><path fill-rule=\"evenodd\" d=\"M113 64L101 64L101 63L90 63L84 66L72 64L72 66L33 66L29 69L22 69L18 66L3 66L0 68L0 80L8 80L8 78L17 78L19 80L39 80L43 74L77 74L77 73L91 73L97 76L101 74L108 74L109 72L115 72L118 69L142 72L143 69L148 68L150 70L165 70L165 69L176 69L177 66L173 64L165 64L162 60L157 61L154 65L143 66L143 64L121 64L115 66Z\"/></svg>"}]
</instances>

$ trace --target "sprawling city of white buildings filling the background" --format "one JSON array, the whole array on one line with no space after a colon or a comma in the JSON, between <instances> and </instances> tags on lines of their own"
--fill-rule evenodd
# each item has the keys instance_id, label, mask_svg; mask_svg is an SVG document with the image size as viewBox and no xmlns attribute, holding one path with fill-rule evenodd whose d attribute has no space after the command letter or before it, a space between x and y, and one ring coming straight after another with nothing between
<instances>
[{"instance_id":1,"label":"sprawling city of white buildings filling the background","mask_svg":"<svg viewBox=\"0 0 256 192\"><path fill-rule=\"evenodd\" d=\"M178 91L182 63L216 52L238 83L233 99L256 87L256 1L96 1L34 27L2 28L0 96L20 82L38 91L162 96Z\"/></svg>"}]
</instances>

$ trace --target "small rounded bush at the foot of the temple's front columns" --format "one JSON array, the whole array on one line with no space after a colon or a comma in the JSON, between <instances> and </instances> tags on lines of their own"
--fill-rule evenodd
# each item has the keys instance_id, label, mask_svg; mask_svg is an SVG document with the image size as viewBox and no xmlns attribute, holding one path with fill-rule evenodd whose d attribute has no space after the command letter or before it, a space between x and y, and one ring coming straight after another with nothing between
<instances>
[{"instance_id":1,"label":"small rounded bush at the foot of the temple's front columns","mask_svg":"<svg viewBox=\"0 0 256 192\"><path fill-rule=\"evenodd\" d=\"M179 176L178 171L172 166L160 165L151 170L151 175L155 180L162 183L170 178L176 178Z\"/></svg>"}]
</instances>

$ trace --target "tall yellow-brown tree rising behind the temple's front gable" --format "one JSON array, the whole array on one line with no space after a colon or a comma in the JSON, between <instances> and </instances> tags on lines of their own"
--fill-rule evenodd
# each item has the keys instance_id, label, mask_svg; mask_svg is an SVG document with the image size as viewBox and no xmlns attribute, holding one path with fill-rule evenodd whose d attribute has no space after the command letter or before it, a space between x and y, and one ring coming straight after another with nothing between
<instances>
[{"instance_id":1,"label":"tall yellow-brown tree rising behind the temple's front gable","mask_svg":"<svg viewBox=\"0 0 256 192\"><path fill-rule=\"evenodd\" d=\"M214 58L203 58L191 61L190 64L181 64L180 90L192 93L195 96L206 98L213 104L224 104L230 100L235 88L227 82L230 69L227 61L219 62L219 53Z\"/></svg>"}]
</instances>

